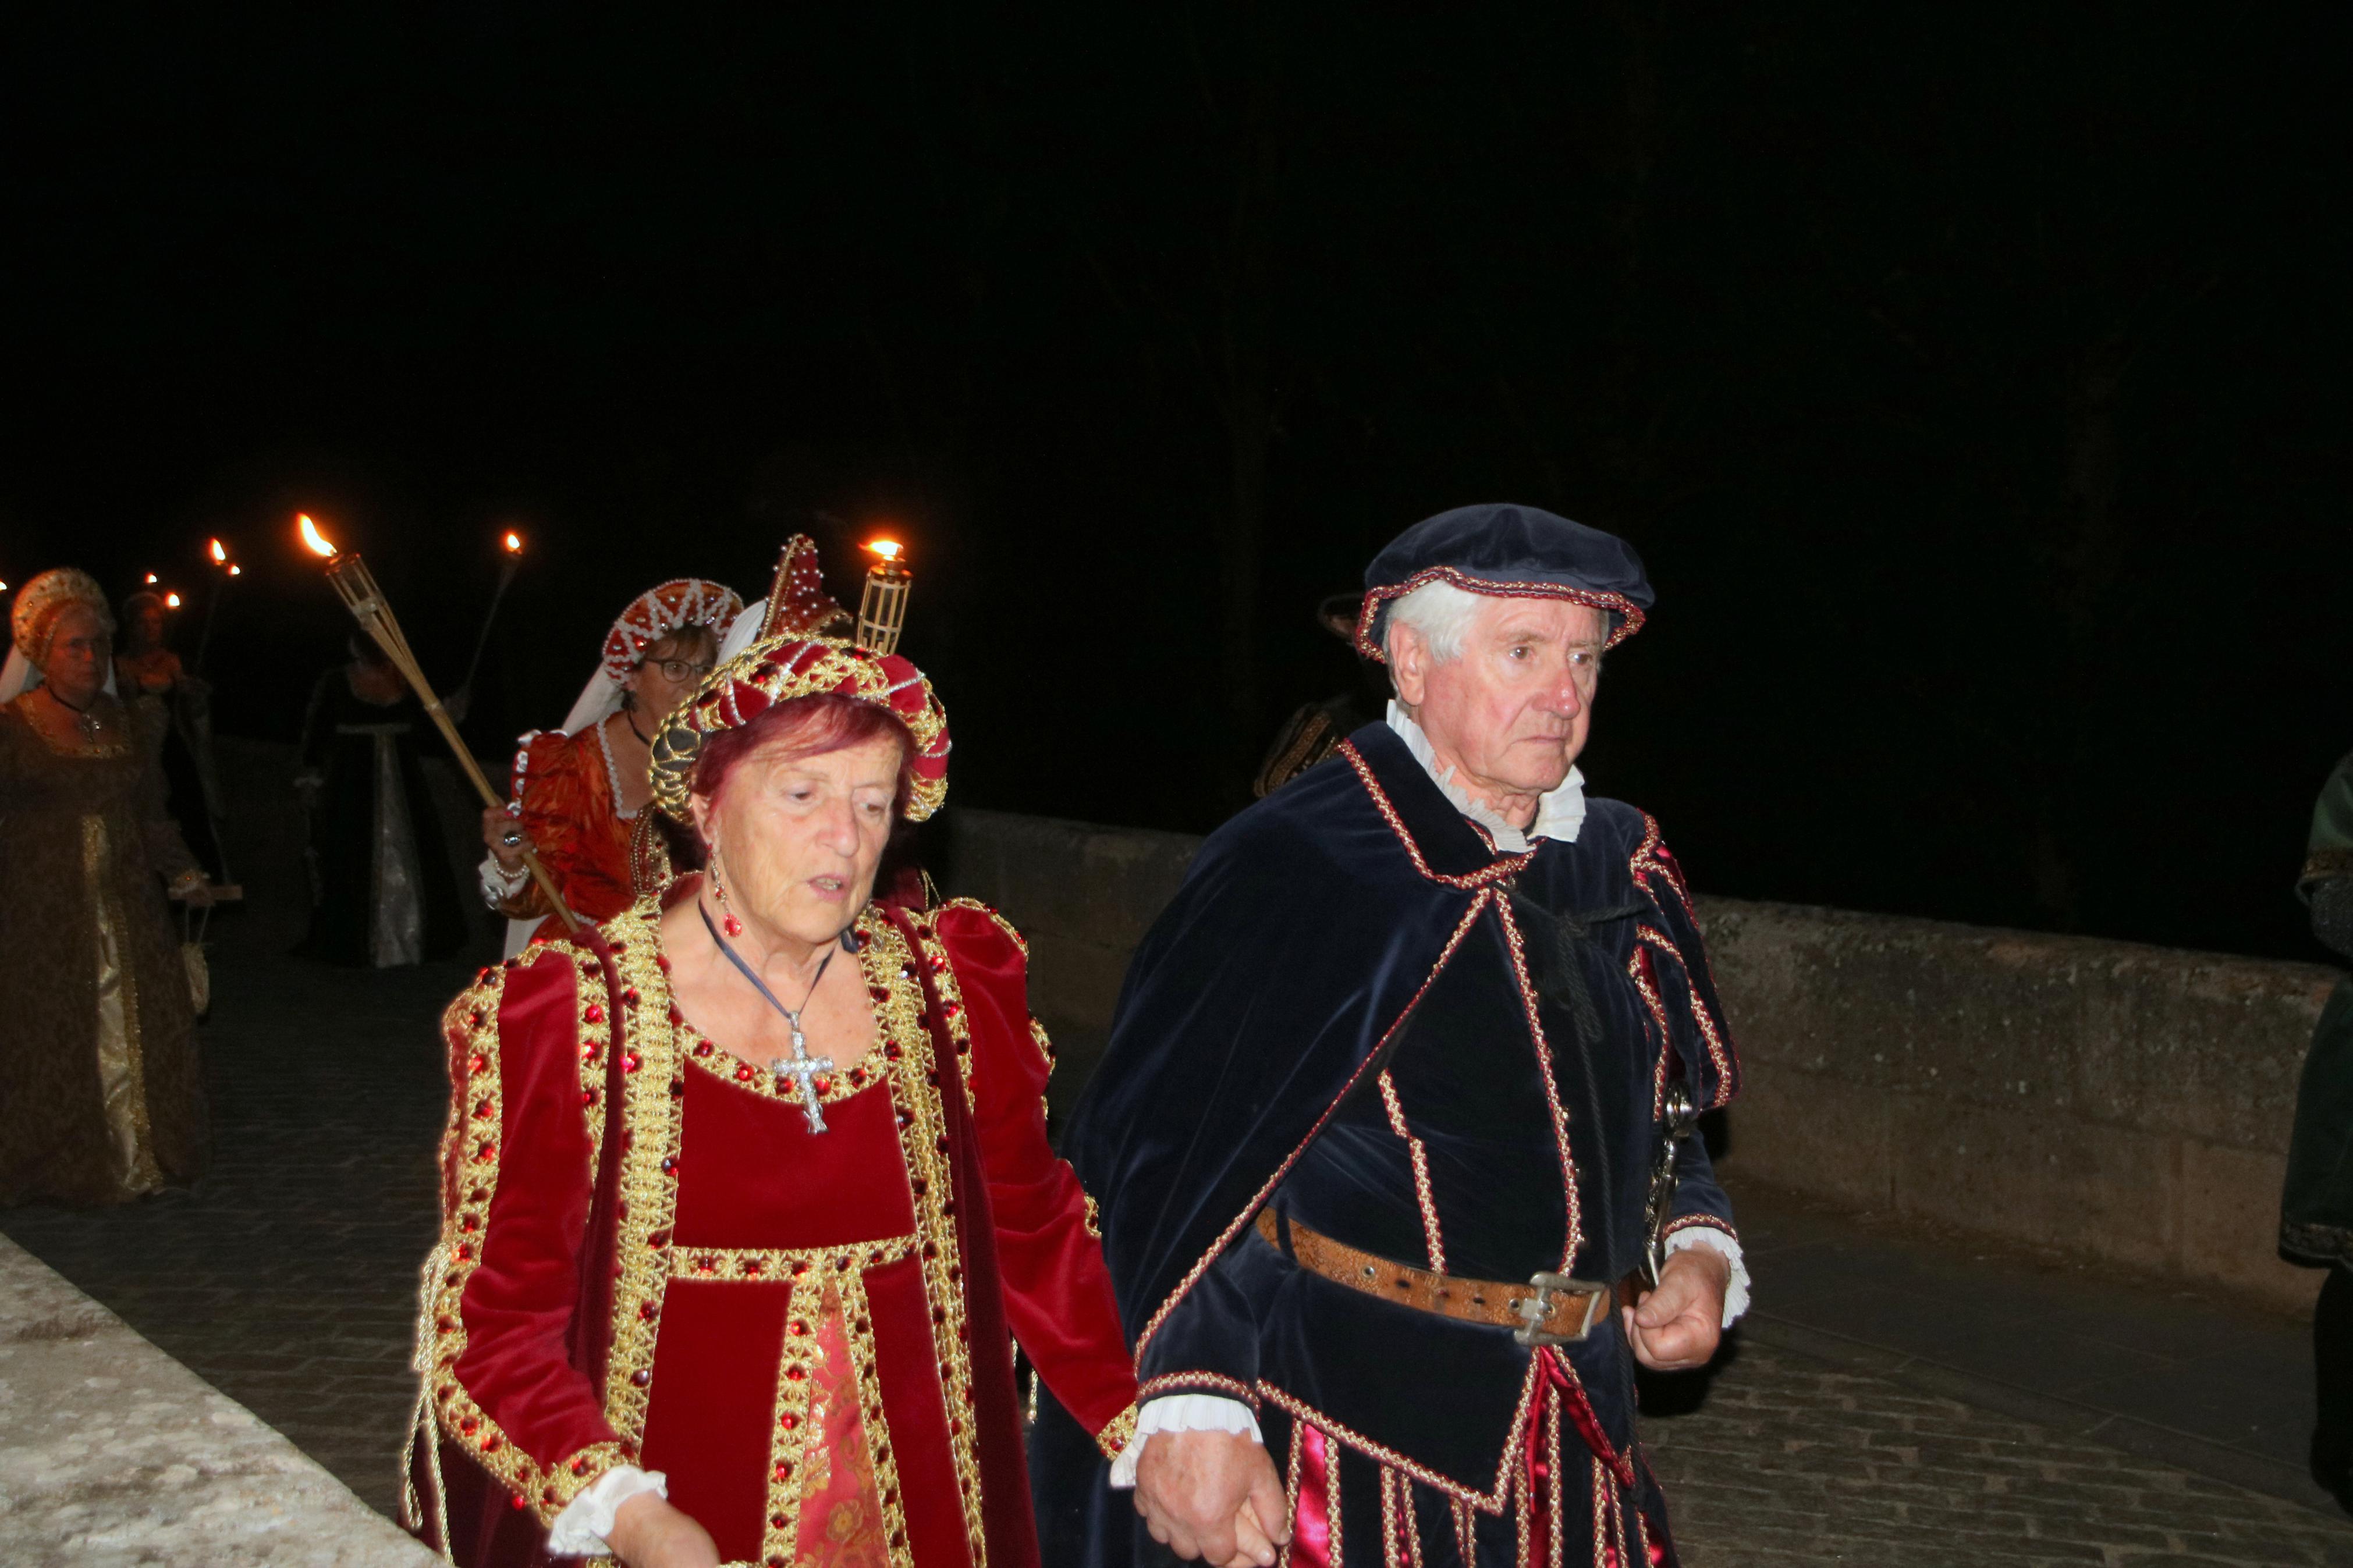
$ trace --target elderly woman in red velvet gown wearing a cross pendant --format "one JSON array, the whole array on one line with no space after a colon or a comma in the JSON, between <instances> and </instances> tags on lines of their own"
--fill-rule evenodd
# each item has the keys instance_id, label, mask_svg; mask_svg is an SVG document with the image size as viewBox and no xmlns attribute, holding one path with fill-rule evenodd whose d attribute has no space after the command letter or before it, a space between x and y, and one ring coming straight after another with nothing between
<instances>
[{"instance_id":1,"label":"elderly woman in red velvet gown wearing a cross pendant","mask_svg":"<svg viewBox=\"0 0 2353 1568\"><path fill-rule=\"evenodd\" d=\"M1129 1441L1021 938L871 900L946 752L904 658L753 644L652 748L708 870L452 1004L409 1519L456 1561L1035 1568L1012 1340Z\"/></svg>"}]
</instances>

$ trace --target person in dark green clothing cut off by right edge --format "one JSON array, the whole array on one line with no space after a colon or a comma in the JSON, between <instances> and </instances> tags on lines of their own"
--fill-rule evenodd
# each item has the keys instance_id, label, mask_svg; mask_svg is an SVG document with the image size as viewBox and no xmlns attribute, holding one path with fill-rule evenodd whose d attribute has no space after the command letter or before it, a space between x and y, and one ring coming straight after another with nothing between
<instances>
[{"instance_id":1,"label":"person in dark green clothing cut off by right edge","mask_svg":"<svg viewBox=\"0 0 2353 1568\"><path fill-rule=\"evenodd\" d=\"M2353 959L2353 757L2337 764L2320 802L2297 893L2313 936ZM2313 1305L2313 1481L2353 1512L2353 980L2339 980L2313 1030L2297 1084L2280 1194L2280 1253L2327 1269Z\"/></svg>"}]
</instances>

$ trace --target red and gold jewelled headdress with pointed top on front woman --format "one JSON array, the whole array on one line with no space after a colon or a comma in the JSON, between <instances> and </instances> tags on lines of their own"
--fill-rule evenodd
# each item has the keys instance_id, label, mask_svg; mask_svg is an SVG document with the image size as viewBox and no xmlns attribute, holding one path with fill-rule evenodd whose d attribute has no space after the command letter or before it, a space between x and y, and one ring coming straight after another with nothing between
<instances>
[{"instance_id":1,"label":"red and gold jewelled headdress with pointed top on front woman","mask_svg":"<svg viewBox=\"0 0 2353 1568\"><path fill-rule=\"evenodd\" d=\"M899 654L875 654L840 637L819 635L847 621L826 597L816 571L816 545L795 534L776 562L776 585L767 595L760 639L713 670L694 696L671 710L654 736L654 804L687 820L694 759L704 738L755 717L776 703L835 693L889 708L915 738L908 766L913 790L906 818L920 823L948 799L948 710L922 670Z\"/></svg>"}]
</instances>

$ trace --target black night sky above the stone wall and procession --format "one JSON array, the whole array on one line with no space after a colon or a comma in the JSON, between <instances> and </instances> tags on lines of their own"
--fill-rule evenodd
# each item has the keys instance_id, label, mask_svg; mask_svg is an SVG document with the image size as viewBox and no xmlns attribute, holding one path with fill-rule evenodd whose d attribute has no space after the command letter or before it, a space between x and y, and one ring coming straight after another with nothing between
<instances>
[{"instance_id":1,"label":"black night sky above the stone wall and procession","mask_svg":"<svg viewBox=\"0 0 2353 1568\"><path fill-rule=\"evenodd\" d=\"M35 12L45 9L47 19ZM367 552L475 750L680 574L911 541L955 799L1202 830L1464 501L1659 585L1586 773L1715 893L2318 957L2353 748L2322 7L16 7L0 578Z\"/></svg>"}]
</instances>

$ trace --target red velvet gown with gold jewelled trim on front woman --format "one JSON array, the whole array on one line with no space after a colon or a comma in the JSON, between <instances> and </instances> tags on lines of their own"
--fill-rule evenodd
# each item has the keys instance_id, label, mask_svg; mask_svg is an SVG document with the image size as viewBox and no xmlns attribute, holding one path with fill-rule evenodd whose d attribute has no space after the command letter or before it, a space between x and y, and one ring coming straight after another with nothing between
<instances>
[{"instance_id":1,"label":"red velvet gown with gold jewelled trim on front woman","mask_svg":"<svg viewBox=\"0 0 2353 1568\"><path fill-rule=\"evenodd\" d=\"M1127 1441L1021 938L965 900L854 931L878 1046L821 1079L824 1133L678 1013L652 900L449 1006L412 1528L456 1561L544 1561L555 1514L640 1465L727 1563L1033 1568L1007 1331Z\"/></svg>"}]
</instances>

